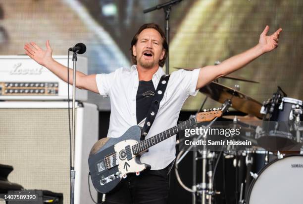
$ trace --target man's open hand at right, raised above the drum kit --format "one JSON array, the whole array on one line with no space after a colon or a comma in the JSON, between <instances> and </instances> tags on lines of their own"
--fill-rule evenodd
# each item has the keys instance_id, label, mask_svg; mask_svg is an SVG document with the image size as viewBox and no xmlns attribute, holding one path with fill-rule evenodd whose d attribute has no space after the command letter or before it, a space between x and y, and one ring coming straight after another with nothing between
<instances>
[{"instance_id":1,"label":"man's open hand at right, raised above the drum kit","mask_svg":"<svg viewBox=\"0 0 303 204\"><path fill-rule=\"evenodd\" d=\"M282 31L282 28L279 28L274 34L266 36L268 30L269 30L269 26L266 25L259 39L259 45L264 53L270 52L274 50L276 47L278 47L279 34Z\"/></svg>"}]
</instances>

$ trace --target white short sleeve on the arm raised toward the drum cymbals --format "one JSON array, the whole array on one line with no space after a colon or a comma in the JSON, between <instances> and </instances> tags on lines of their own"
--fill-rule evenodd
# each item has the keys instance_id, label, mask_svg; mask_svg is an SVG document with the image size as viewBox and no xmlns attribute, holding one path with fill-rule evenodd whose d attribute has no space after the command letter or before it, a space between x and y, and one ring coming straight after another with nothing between
<instances>
[{"instance_id":1,"label":"white short sleeve on the arm raised toward the drum cymbals","mask_svg":"<svg viewBox=\"0 0 303 204\"><path fill-rule=\"evenodd\" d=\"M199 90L196 90L200 68L192 71L180 69L177 72L176 79L180 86L186 91L187 95L196 96Z\"/></svg>"}]
</instances>

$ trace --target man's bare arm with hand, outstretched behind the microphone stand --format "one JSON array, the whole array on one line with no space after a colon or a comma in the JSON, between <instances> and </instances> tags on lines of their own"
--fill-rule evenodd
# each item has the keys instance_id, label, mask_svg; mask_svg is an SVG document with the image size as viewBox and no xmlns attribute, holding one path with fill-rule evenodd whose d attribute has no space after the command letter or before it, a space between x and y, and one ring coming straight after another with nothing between
<instances>
[{"instance_id":1,"label":"man's bare arm with hand, outstretched behind the microphone stand","mask_svg":"<svg viewBox=\"0 0 303 204\"><path fill-rule=\"evenodd\" d=\"M48 68L63 81L67 82L67 67L61 65L52 58L52 49L49 40L46 42L46 48L46 50L43 50L33 42L24 45L26 55L40 65ZM69 69L69 76L69 83L72 84L73 69L71 68ZM86 75L81 71L76 71L76 87L99 93L96 83L96 74Z\"/></svg>"}]
</instances>

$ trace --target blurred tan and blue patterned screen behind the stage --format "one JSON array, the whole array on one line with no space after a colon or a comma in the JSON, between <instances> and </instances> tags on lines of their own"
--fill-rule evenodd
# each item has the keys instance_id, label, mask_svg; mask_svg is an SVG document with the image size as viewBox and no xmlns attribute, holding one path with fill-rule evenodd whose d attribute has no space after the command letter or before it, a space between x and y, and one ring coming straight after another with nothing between
<instances>
[{"instance_id":1,"label":"blurred tan and blue patterned screen behind the stage","mask_svg":"<svg viewBox=\"0 0 303 204\"><path fill-rule=\"evenodd\" d=\"M130 42L148 22L164 28L164 12L143 9L166 0L0 0L0 55L24 54L34 41L54 55L66 55L78 42L87 45L89 73L109 73L131 66ZM271 34L283 28L279 47L233 73L259 84L219 79L263 102L281 86L289 97L303 99L302 0L183 0L170 15L170 72L173 67L199 68L241 53L257 44L266 25ZM190 97L183 110L197 110L205 96ZM89 102L109 110L109 99L90 93ZM220 104L211 99L205 107Z\"/></svg>"}]
</instances>

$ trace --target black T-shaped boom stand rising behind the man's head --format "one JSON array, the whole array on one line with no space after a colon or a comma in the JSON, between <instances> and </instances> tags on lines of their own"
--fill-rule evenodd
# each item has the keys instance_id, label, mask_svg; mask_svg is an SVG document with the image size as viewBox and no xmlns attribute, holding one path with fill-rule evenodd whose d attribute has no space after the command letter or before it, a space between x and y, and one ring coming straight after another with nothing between
<instances>
[{"instance_id":1,"label":"black T-shaped boom stand rising behind the man's head","mask_svg":"<svg viewBox=\"0 0 303 204\"><path fill-rule=\"evenodd\" d=\"M165 13L165 20L166 20L166 24L165 24L165 35L166 35L166 40L167 40L167 46L169 47L169 15L170 15L170 11L171 11L171 6L173 4L177 4L182 0L171 0L165 3L161 3L158 4L156 6L153 6L151 8L145 9L143 10L143 13L148 13L151 12L153 10L158 10L163 8L164 13ZM169 54L167 55L166 61L165 61L165 73L169 74Z\"/></svg>"}]
</instances>

